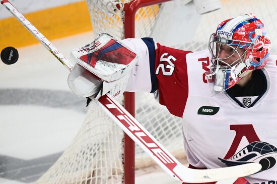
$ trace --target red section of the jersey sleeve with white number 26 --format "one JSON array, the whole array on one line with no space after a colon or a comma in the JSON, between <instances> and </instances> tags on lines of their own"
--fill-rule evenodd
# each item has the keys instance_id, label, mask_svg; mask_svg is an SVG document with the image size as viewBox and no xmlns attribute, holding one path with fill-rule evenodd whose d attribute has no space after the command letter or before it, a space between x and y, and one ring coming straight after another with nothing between
<instances>
[{"instance_id":1,"label":"red section of the jersey sleeve with white number 26","mask_svg":"<svg viewBox=\"0 0 277 184\"><path fill-rule=\"evenodd\" d=\"M191 52L157 43L155 53L159 103L165 105L171 114L182 117L188 97L186 55Z\"/></svg>"}]
</instances>

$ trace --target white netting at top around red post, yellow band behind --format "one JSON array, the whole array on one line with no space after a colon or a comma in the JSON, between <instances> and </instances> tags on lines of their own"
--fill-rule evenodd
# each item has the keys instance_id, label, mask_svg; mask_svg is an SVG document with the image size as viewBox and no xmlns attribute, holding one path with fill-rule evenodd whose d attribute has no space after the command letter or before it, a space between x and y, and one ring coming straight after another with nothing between
<instances>
[{"instance_id":1,"label":"white netting at top around red post, yellow band behind","mask_svg":"<svg viewBox=\"0 0 277 184\"><path fill-rule=\"evenodd\" d=\"M87 0L86 2L89 7L95 38L100 33L109 33L117 39L124 38L123 5L131 2L131 0ZM135 15L135 36L137 38L150 36L159 11L159 5L138 10Z\"/></svg>"}]
</instances>

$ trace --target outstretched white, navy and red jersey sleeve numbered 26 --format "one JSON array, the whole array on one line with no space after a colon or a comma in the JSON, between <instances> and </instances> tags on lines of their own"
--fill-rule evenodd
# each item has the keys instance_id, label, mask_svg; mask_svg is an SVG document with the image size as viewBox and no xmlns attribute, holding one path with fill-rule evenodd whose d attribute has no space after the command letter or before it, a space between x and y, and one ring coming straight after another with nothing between
<instances>
[{"instance_id":1,"label":"outstretched white, navy and red jersey sleeve numbered 26","mask_svg":"<svg viewBox=\"0 0 277 184\"><path fill-rule=\"evenodd\" d=\"M126 91L155 93L171 114L182 117L188 96L186 54L190 52L162 46L152 38L123 43L138 55Z\"/></svg>"}]
</instances>

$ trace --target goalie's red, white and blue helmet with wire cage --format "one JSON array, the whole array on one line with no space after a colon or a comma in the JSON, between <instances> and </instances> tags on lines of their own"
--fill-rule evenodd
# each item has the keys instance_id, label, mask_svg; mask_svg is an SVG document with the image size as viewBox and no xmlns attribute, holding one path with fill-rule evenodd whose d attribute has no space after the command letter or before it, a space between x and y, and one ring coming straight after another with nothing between
<instances>
[{"instance_id":1,"label":"goalie's red, white and blue helmet with wire cage","mask_svg":"<svg viewBox=\"0 0 277 184\"><path fill-rule=\"evenodd\" d=\"M209 40L211 70L206 72L212 95L234 86L248 71L261 69L269 56L270 41L263 23L252 14L222 22Z\"/></svg>"}]
</instances>

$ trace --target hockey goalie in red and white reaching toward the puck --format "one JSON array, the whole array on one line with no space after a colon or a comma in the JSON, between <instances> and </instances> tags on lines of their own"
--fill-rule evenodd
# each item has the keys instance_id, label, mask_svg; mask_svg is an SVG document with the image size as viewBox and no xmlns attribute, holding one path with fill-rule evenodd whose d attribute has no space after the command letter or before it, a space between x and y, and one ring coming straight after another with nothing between
<instances>
[{"instance_id":1,"label":"hockey goalie in red and white reaching toward the puck","mask_svg":"<svg viewBox=\"0 0 277 184\"><path fill-rule=\"evenodd\" d=\"M98 99L124 91L154 93L183 118L190 168L256 162L262 168L236 183L277 180L277 56L263 23L252 14L223 21L206 50L183 51L152 38L116 41L101 34L72 52L68 85Z\"/></svg>"}]
</instances>

